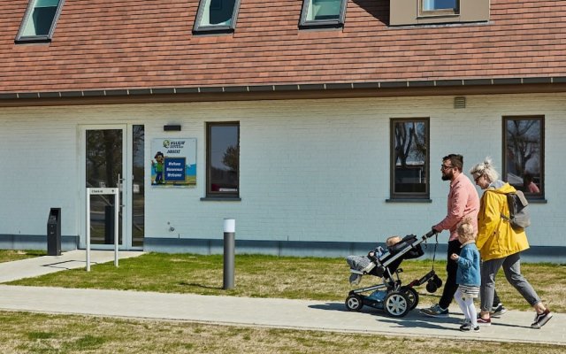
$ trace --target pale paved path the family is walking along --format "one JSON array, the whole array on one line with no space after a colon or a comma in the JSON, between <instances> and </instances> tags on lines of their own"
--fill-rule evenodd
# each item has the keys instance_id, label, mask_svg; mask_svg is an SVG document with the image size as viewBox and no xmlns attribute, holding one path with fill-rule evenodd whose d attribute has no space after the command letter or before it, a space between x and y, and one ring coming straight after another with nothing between
<instances>
[{"instance_id":1,"label":"pale paved path the family is walking along","mask_svg":"<svg viewBox=\"0 0 566 354\"><path fill-rule=\"evenodd\" d=\"M101 254L98 262L112 261L113 253L107 253ZM126 254L122 252L120 257L126 257ZM48 264L57 263L53 262L54 259L49 262L49 256L44 258ZM13 263L26 268L27 262L32 263L32 260ZM81 260L74 259L73 262L80 266ZM82 262L84 266L84 259ZM0 274L4 275L5 269L8 266L0 264ZM13 267L10 269L14 270ZM17 276L16 272L11 274L11 278ZM30 273L26 272L25 276L30 276ZM447 339L469 337L484 341L540 342L562 345L566 350L566 330L563 327L566 314L562 313L555 313L555 317L542 329L532 329L533 312L510 311L501 319L493 319L492 326L481 327L479 333L463 334L458 330L463 315L457 307L451 308L448 319L427 318L417 310L402 319L394 319L367 307L363 308L363 312L347 312L341 302L10 285L0 285L0 309Z\"/></svg>"}]
</instances>

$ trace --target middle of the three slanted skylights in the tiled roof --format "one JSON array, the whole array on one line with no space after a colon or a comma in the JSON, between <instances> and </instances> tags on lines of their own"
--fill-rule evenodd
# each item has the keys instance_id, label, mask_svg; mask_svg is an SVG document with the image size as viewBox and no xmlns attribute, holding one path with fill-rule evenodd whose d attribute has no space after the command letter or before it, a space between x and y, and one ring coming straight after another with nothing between
<instances>
[{"instance_id":1,"label":"middle of the three slanted skylights in the tiled roof","mask_svg":"<svg viewBox=\"0 0 566 354\"><path fill-rule=\"evenodd\" d=\"M201 0L194 32L233 32L239 8L240 0Z\"/></svg>"}]
</instances>

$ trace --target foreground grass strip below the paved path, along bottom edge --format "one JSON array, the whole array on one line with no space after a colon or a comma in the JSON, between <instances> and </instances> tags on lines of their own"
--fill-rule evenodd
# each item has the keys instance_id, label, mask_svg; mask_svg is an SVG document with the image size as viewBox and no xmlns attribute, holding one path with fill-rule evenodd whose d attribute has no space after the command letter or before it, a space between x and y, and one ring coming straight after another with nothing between
<instances>
[{"instance_id":1,"label":"foreground grass strip below the paved path, along bottom edge","mask_svg":"<svg viewBox=\"0 0 566 354\"><path fill-rule=\"evenodd\" d=\"M516 354L560 346L0 312L2 353Z\"/></svg>"}]
</instances>

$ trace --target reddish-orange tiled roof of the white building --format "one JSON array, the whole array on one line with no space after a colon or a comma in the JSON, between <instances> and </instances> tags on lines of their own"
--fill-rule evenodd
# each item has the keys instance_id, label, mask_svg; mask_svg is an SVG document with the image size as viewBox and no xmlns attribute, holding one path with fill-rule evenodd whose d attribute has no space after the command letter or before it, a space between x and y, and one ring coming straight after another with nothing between
<instances>
[{"instance_id":1,"label":"reddish-orange tiled roof of the white building","mask_svg":"<svg viewBox=\"0 0 566 354\"><path fill-rule=\"evenodd\" d=\"M66 0L52 42L15 44L27 2L0 0L4 96L566 77L566 1L492 0L486 23L388 27L388 1L349 0L343 28L300 30L302 0L241 0L233 34L193 35L198 0Z\"/></svg>"}]
</instances>

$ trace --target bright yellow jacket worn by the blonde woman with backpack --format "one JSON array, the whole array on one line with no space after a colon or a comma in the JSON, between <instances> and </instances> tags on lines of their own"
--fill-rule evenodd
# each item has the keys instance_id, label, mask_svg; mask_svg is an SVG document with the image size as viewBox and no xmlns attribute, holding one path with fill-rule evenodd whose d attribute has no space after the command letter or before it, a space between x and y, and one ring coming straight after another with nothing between
<instances>
[{"instance_id":1,"label":"bright yellow jacket worn by the blonde woman with backpack","mask_svg":"<svg viewBox=\"0 0 566 354\"><path fill-rule=\"evenodd\" d=\"M481 197L476 245L482 260L504 258L529 249L524 229L514 229L508 220L501 218L501 213L509 216L505 194L515 191L509 183L504 183L499 189L486 189Z\"/></svg>"}]
</instances>

